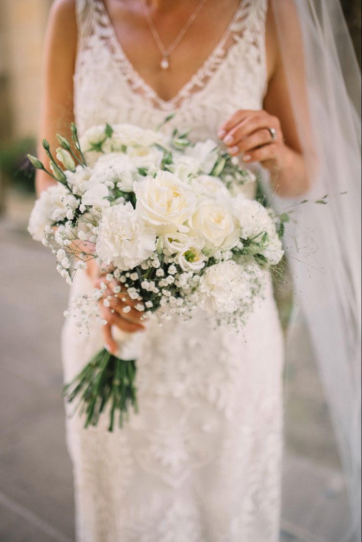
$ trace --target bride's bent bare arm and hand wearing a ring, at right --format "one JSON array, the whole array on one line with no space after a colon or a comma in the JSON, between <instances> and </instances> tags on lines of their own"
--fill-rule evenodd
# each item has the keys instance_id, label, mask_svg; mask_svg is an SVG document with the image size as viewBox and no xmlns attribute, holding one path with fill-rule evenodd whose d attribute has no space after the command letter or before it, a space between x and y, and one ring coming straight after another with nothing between
<instances>
[{"instance_id":1,"label":"bride's bent bare arm and hand wearing a ring, at right","mask_svg":"<svg viewBox=\"0 0 362 542\"><path fill-rule=\"evenodd\" d=\"M289 11L290 25L295 29L293 34L295 50L302 51L302 38L295 7L290 0L281 1L283 1L283 9ZM229 147L230 154L241 154L244 162L247 163L261 162L270 171L273 187L279 195L294 197L308 190L309 177L302 155L270 6L266 23L266 49L269 82L264 98L264 109L237 111L221 127L218 135ZM305 107L306 115L303 120L308 122L302 55L299 56L296 68L299 70L300 77L300 99L305 101L303 107ZM276 130L276 140L273 144L269 144L271 135L268 127Z\"/></svg>"}]
</instances>

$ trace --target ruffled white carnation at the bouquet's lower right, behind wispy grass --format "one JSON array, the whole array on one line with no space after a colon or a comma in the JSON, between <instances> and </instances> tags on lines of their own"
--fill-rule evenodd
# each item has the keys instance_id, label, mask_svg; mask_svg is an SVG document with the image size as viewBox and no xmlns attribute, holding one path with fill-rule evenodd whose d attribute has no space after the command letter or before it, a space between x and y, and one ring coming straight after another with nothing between
<instances>
[{"instance_id":1,"label":"ruffled white carnation at the bouquet's lower right, behind wispy grass","mask_svg":"<svg viewBox=\"0 0 362 542\"><path fill-rule=\"evenodd\" d=\"M250 279L233 260L219 262L201 276L199 293L199 303L205 311L233 313L250 296Z\"/></svg>"}]
</instances>

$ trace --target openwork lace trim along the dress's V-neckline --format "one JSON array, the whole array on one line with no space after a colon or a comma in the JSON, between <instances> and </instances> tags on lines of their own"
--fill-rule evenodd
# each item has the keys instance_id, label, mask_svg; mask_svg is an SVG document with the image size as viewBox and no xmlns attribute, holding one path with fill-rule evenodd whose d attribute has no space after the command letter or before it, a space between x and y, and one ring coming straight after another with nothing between
<instances>
[{"instance_id":1,"label":"openwork lace trim along the dress's V-neckline","mask_svg":"<svg viewBox=\"0 0 362 542\"><path fill-rule=\"evenodd\" d=\"M125 53L125 51L124 51L118 37L117 37L117 34L115 33L115 28L114 28L114 25L113 25L113 23L111 21L111 18L108 15L107 10L106 10L104 0L96 0L96 1L98 2L99 7L100 7L100 15L103 18L103 23L104 23L105 27L107 27L108 30L109 30L109 39L111 40L111 43L112 43L112 46L113 46L113 50L111 51L111 53L113 55L115 55L115 56L118 55L118 57L126 64L126 68L128 70L130 80L136 82L138 87L144 88L147 91L147 94L151 96L151 99L154 100L155 102L157 102L158 105L161 108L164 108L164 109L167 109L167 108L170 108L170 107L172 108L172 106L174 104L176 104L179 100L182 100L182 98L185 95L188 95L188 91L190 90L190 88L192 88L194 86L194 81L197 81L199 79L202 72L205 71L206 66L208 66L208 64L213 64L215 61L217 61L218 51L223 48L225 42L227 41L228 36L230 35L230 33L232 31L232 28L234 27L234 24L236 23L236 21L238 20L240 14L242 12L242 8L244 7L244 4L247 4L247 6L249 4L248 2L245 2L244 0L240 0L234 14L232 15L232 18L231 18L226 30L223 33L223 36L217 42L216 46L211 50L210 54L208 56L206 56L204 62L201 64L201 66L196 70L196 72L194 72L190 76L188 81L186 81L184 83L184 85L177 91L176 94L174 94L174 96L172 96L172 98L170 98L169 100L164 100L154 90L154 88L149 83L147 83L147 81L144 80L144 78L140 75L138 70L134 68L132 62L130 61L130 59L126 55L126 53ZM247 16L246 16L246 18L247 18ZM234 47L234 45L235 44L232 44L230 46L229 50L232 49ZM229 53L229 50L228 50L228 53ZM214 77L214 75L217 73L217 71L218 71L218 68L211 75L209 81ZM207 83L206 83L206 85L207 85Z\"/></svg>"}]
</instances>

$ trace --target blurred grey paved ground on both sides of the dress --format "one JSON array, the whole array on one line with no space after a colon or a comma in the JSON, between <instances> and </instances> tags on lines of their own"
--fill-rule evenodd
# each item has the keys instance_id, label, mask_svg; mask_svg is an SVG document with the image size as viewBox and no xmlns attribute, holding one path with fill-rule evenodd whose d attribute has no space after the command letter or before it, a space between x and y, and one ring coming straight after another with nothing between
<instances>
[{"instance_id":1,"label":"blurred grey paved ground on both sides of the dress","mask_svg":"<svg viewBox=\"0 0 362 542\"><path fill-rule=\"evenodd\" d=\"M51 254L25 234L28 212L29 201L17 196L0 221L0 540L71 542L59 337L68 290ZM320 385L307 351L302 365L289 359L286 401L294 423L287 420L281 540L340 542L346 504ZM313 535L298 527L305 517Z\"/></svg>"}]
</instances>

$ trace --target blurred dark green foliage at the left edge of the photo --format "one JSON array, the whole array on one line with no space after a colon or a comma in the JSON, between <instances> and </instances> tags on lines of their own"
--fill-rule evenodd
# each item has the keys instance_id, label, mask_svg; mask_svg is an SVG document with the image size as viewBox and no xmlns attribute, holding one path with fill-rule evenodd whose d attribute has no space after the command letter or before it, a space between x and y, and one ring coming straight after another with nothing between
<instances>
[{"instance_id":1,"label":"blurred dark green foliage at the left edge of the photo","mask_svg":"<svg viewBox=\"0 0 362 542\"><path fill-rule=\"evenodd\" d=\"M27 154L36 152L33 138L10 141L0 147L0 171L5 182L24 192L34 192L35 167Z\"/></svg>"}]
</instances>

